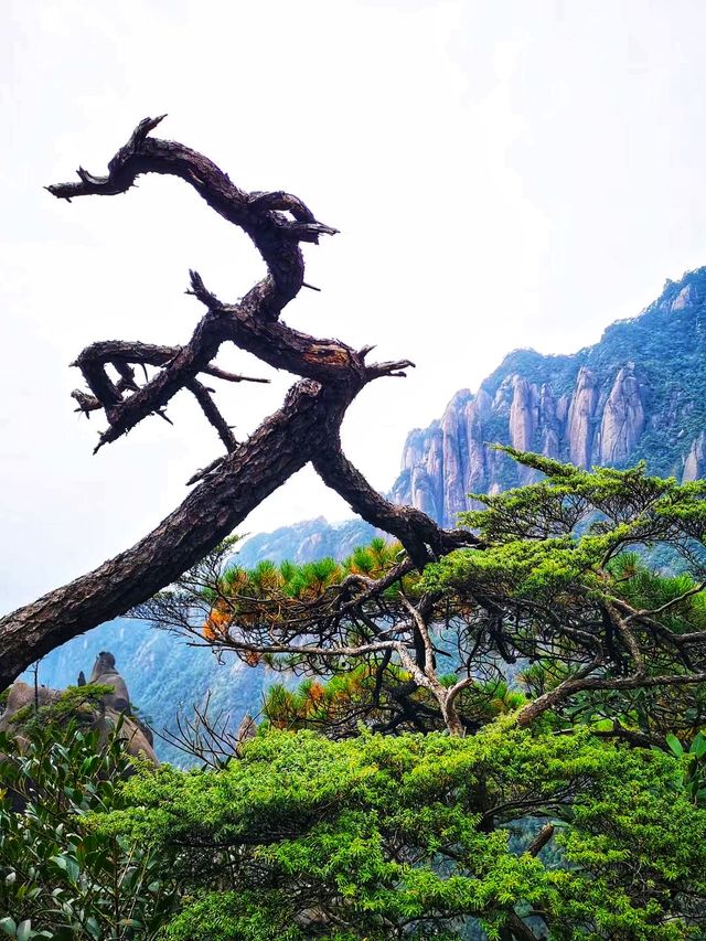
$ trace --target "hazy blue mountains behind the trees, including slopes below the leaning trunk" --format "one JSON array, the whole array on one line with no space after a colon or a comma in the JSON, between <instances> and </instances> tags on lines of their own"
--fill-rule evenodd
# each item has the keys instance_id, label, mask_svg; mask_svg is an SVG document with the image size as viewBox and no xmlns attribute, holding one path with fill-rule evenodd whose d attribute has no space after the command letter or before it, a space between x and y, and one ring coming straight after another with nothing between
<instances>
[{"instance_id":1,"label":"hazy blue mountains behind the trees, including slopes below the leaning trunk","mask_svg":"<svg viewBox=\"0 0 706 941\"><path fill-rule=\"evenodd\" d=\"M411 503L445 525L468 507L469 492L494 492L532 479L486 442L535 450L580 467L625 466L644 459L656 474L706 477L706 268L667 281L639 317L613 323L593 346L564 356L515 350L473 394L458 392L442 417L407 438L392 499ZM362 520L323 517L250 537L239 549L246 567L263 558L343 558L375 531ZM55 688L90 670L110 650L135 703L157 730L174 727L211 691L212 706L233 725L257 713L272 677L235 657L188 646L164 631L118 619L53 651L41 682ZM159 739L161 759L179 755Z\"/></svg>"}]
</instances>

